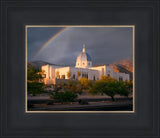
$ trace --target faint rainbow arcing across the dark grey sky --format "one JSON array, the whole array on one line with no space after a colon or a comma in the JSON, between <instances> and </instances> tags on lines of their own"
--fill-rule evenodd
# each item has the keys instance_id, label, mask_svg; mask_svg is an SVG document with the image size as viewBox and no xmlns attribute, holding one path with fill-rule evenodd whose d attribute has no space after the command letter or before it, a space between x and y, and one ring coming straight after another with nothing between
<instances>
[{"instance_id":1,"label":"faint rainbow arcing across the dark grey sky","mask_svg":"<svg viewBox=\"0 0 160 138\"><path fill-rule=\"evenodd\" d=\"M34 57L38 56L56 37L58 37L61 33L63 33L64 31L66 31L69 27L65 27L63 29L61 29L59 32L57 32L54 36L52 36L39 50L38 52L35 54ZM33 57L33 58L34 58Z\"/></svg>"}]
</instances>

